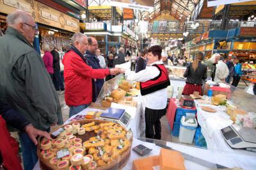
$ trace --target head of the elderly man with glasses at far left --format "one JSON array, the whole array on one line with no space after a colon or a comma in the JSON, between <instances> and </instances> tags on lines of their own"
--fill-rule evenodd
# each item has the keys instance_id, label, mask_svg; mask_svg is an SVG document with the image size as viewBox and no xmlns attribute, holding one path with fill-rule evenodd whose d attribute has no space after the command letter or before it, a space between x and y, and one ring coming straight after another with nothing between
<instances>
[{"instance_id":1,"label":"head of the elderly man with glasses at far left","mask_svg":"<svg viewBox=\"0 0 256 170\"><path fill-rule=\"evenodd\" d=\"M7 16L6 21L8 27L13 27L19 31L29 43L33 43L36 33L35 22L28 12L15 10L15 12L12 12Z\"/></svg>"}]
</instances>

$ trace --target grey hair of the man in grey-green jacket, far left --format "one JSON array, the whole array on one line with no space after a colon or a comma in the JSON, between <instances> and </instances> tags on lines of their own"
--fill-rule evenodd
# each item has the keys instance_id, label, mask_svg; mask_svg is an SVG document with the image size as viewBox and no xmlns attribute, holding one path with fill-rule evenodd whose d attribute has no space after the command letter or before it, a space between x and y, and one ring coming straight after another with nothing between
<instances>
[{"instance_id":1,"label":"grey hair of the man in grey-green jacket, far left","mask_svg":"<svg viewBox=\"0 0 256 170\"><path fill-rule=\"evenodd\" d=\"M24 12L22 10L15 10L15 12L10 13L6 17L6 21L8 26L14 26L16 24L19 24L20 22L29 22L29 19L31 19L32 16L29 15L28 12Z\"/></svg>"}]
</instances>

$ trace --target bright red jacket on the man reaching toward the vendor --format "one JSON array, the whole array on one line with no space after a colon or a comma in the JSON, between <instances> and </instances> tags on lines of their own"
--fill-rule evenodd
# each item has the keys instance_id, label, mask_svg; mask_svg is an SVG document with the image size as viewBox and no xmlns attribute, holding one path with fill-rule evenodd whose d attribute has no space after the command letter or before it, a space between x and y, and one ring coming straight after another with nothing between
<instances>
[{"instance_id":1,"label":"bright red jacket on the man reaching toward the vendor","mask_svg":"<svg viewBox=\"0 0 256 170\"><path fill-rule=\"evenodd\" d=\"M92 79L103 79L109 69L92 69L76 52L68 51L62 60L64 65L65 101L68 106L92 102Z\"/></svg>"}]
</instances>

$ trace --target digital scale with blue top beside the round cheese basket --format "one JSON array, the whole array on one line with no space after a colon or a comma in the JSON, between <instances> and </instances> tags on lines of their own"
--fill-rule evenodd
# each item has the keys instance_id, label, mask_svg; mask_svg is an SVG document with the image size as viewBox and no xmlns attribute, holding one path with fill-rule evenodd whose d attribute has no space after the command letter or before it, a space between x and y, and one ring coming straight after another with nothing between
<instances>
[{"instance_id":1,"label":"digital scale with blue top beside the round cheese basket","mask_svg":"<svg viewBox=\"0 0 256 170\"><path fill-rule=\"evenodd\" d=\"M116 109L113 107L109 107L108 109L106 109L106 111L100 114L99 119L106 120L106 121L113 121L127 128L131 121L131 115L125 112L124 109Z\"/></svg>"}]
</instances>

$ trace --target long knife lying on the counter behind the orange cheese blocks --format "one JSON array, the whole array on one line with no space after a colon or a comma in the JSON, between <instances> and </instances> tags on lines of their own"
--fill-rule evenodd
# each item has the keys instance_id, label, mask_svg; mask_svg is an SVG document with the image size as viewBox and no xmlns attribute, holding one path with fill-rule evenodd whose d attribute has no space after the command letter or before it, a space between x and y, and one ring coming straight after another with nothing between
<instances>
[{"instance_id":1,"label":"long knife lying on the counter behind the orange cheese blocks","mask_svg":"<svg viewBox=\"0 0 256 170\"><path fill-rule=\"evenodd\" d=\"M159 144L159 143L155 143L157 146L160 146L161 148L165 148L165 149L168 149L168 150L173 150L173 148L170 148L169 146L166 146L164 144ZM176 150L175 150L176 151ZM228 168L228 167L225 167L225 166L221 166L220 164L214 164L212 162L209 162L207 160L204 160L202 158L198 158L198 157L194 157L192 155L189 155L187 153L183 153L181 151L179 151L181 153L181 155L186 159L186 160L190 160L191 162L195 162L196 164L200 164L202 166L205 166L205 167L209 167L211 169L225 169L225 168Z\"/></svg>"}]
</instances>

